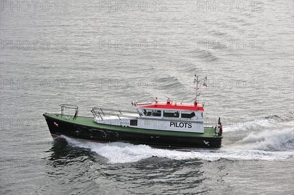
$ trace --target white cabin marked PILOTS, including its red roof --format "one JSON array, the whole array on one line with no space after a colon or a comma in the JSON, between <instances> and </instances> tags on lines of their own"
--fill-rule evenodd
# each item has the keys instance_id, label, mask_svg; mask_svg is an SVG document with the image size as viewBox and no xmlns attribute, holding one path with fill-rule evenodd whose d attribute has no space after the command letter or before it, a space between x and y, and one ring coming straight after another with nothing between
<instances>
[{"instance_id":1,"label":"white cabin marked PILOTS, including its red roof","mask_svg":"<svg viewBox=\"0 0 294 195\"><path fill-rule=\"evenodd\" d=\"M204 133L203 106L195 104L177 104L172 101L133 104L137 112L130 115L99 112L95 122L115 126L150 130L172 130Z\"/></svg>"}]
</instances>

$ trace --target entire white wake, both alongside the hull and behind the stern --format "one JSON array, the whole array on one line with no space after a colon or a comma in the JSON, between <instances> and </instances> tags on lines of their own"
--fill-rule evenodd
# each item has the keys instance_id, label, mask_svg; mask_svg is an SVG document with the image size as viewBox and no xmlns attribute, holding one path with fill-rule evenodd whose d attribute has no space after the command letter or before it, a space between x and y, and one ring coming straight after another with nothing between
<instances>
[{"instance_id":1,"label":"entire white wake, both alongside the hull and behind the stern","mask_svg":"<svg viewBox=\"0 0 294 195\"><path fill-rule=\"evenodd\" d=\"M293 120L280 119L280 117L265 118L262 127L257 129L245 127L242 130L238 128L230 129L227 132L224 130L221 149L165 150L124 142L101 144L63 137L71 146L90 149L106 158L109 163L133 163L151 157L173 160L196 159L211 162L221 159L231 161L293 160Z\"/></svg>"}]
</instances>

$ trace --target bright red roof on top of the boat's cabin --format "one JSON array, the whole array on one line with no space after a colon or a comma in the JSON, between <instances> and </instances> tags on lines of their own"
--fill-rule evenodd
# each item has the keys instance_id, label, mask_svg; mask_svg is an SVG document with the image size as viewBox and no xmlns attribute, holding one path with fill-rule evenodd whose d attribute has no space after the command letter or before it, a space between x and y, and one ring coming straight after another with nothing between
<instances>
[{"instance_id":1,"label":"bright red roof on top of the boat's cabin","mask_svg":"<svg viewBox=\"0 0 294 195\"><path fill-rule=\"evenodd\" d=\"M186 104L186 103L168 103L168 102L151 102L151 103L138 103L137 108L160 108L160 109L186 109L186 110L201 110L204 111L203 106L199 104Z\"/></svg>"}]
</instances>

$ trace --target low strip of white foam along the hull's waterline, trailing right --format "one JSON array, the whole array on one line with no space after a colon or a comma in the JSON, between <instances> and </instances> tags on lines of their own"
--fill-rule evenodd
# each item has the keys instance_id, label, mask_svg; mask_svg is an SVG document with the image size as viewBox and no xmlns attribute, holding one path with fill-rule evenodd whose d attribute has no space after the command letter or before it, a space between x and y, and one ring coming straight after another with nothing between
<instances>
[{"instance_id":1,"label":"low strip of white foam along the hull's waterline, trailing right","mask_svg":"<svg viewBox=\"0 0 294 195\"><path fill-rule=\"evenodd\" d=\"M267 152L260 150L241 149L195 149L192 151L176 151L155 149L146 145L113 142L100 144L64 138L73 146L88 148L107 158L110 163L132 163L152 156L175 160L201 159L204 161L228 160L293 160L293 151Z\"/></svg>"}]
</instances>

